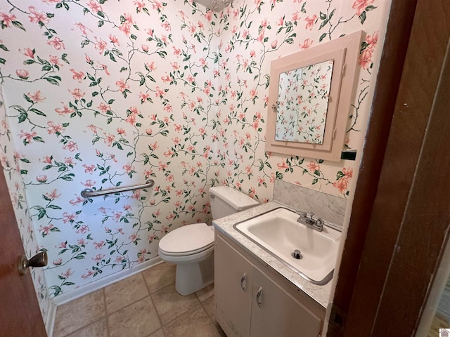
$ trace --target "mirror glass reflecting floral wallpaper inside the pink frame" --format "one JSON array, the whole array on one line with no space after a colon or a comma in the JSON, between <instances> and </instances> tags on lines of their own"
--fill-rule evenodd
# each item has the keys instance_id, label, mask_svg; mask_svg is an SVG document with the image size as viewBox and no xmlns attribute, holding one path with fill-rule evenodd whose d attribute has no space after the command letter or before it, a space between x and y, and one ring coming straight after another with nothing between
<instances>
[{"instance_id":1,"label":"mirror glass reflecting floral wallpaper inside the pink frame","mask_svg":"<svg viewBox=\"0 0 450 337\"><path fill-rule=\"evenodd\" d=\"M276 140L323 143L333 63L328 60L280 74Z\"/></svg>"}]
</instances>

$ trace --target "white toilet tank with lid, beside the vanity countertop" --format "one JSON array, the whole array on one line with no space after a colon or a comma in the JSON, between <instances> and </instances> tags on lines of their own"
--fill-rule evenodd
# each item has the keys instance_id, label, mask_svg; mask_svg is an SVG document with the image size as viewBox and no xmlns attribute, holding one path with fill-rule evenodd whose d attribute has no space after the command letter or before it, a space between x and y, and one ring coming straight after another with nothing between
<instances>
[{"instance_id":1,"label":"white toilet tank with lid, beside the vanity countertop","mask_svg":"<svg viewBox=\"0 0 450 337\"><path fill-rule=\"evenodd\" d=\"M259 205L247 194L228 186L211 187L210 200L213 220Z\"/></svg>"}]
</instances>

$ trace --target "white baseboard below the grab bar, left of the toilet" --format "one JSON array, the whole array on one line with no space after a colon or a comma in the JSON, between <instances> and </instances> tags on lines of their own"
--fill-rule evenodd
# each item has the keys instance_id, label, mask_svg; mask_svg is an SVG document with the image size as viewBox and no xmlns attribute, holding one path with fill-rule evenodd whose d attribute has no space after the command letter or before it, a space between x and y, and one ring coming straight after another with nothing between
<instances>
[{"instance_id":1,"label":"white baseboard below the grab bar, left of the toilet","mask_svg":"<svg viewBox=\"0 0 450 337\"><path fill-rule=\"evenodd\" d=\"M110 284L113 284L115 282L122 281L122 279L126 279L127 277L138 274L139 272L142 272L143 270L146 270L146 269L153 267L154 265L158 265L160 263L162 263L161 258L159 256L156 256L155 258L151 258L150 260L147 260L143 263L139 263L139 265L136 265L129 269L124 269L124 270L121 270L120 272L115 272L113 275L103 277L101 279L98 279L98 280L91 282L89 284L86 284L84 286L80 286L79 288L74 289L68 293L63 293L59 296L53 297L52 300L54 301L56 307L58 307L59 305L63 305L65 303L70 302L71 300L75 300L75 299L85 296L89 293L93 293L94 291L97 291L98 289L102 289L105 286L109 286ZM56 313L56 308L55 308L55 313ZM54 321L54 318L53 318L53 321ZM47 331L49 331L49 330L47 330ZM53 331L53 329L52 329L52 331ZM49 335L49 337L50 336L51 335Z\"/></svg>"}]
</instances>

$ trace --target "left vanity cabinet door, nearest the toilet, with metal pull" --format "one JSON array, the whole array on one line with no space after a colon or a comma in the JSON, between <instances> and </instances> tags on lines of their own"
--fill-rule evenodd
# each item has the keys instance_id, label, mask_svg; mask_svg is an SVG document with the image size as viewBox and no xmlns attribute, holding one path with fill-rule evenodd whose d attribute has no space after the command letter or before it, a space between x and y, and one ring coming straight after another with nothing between
<instances>
[{"instance_id":1,"label":"left vanity cabinet door, nearest the toilet, with metal pull","mask_svg":"<svg viewBox=\"0 0 450 337\"><path fill-rule=\"evenodd\" d=\"M214 315L228 337L250 336L253 269L248 260L216 235Z\"/></svg>"}]
</instances>

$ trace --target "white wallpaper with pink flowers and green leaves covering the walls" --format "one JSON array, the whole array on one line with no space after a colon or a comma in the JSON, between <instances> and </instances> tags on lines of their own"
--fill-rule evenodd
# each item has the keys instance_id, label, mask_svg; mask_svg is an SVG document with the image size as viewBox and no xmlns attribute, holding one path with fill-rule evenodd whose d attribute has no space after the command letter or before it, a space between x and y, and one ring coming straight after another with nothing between
<instances>
[{"instance_id":1,"label":"white wallpaper with pink flowers and green leaves covering the walls","mask_svg":"<svg viewBox=\"0 0 450 337\"><path fill-rule=\"evenodd\" d=\"M49 298L158 254L210 221L207 190L265 202L275 179L346 197L356 161L264 151L270 61L364 29L346 147L361 150L389 1L0 1L0 158ZM84 199L94 190L148 190ZM45 282L43 279L45 278Z\"/></svg>"}]
</instances>

